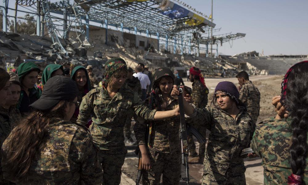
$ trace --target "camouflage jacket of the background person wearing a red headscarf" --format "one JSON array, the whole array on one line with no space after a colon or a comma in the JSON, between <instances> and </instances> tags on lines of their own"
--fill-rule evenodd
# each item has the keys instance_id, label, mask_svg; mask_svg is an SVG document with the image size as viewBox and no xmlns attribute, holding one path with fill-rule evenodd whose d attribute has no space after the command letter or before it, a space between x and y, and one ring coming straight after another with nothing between
<instances>
[{"instance_id":1,"label":"camouflage jacket of the background person wearing a red headscarf","mask_svg":"<svg viewBox=\"0 0 308 185\"><path fill-rule=\"evenodd\" d=\"M205 87L199 80L193 82L193 104L197 108L205 108L208 104L209 89Z\"/></svg>"}]
</instances>

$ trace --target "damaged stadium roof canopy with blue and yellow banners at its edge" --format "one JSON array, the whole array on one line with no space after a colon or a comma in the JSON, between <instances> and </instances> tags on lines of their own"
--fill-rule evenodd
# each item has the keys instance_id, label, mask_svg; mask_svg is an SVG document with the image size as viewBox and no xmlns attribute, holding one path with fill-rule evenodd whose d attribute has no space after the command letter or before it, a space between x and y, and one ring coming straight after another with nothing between
<instances>
[{"instance_id":1,"label":"damaged stadium roof canopy with blue and yellow banners at its edge","mask_svg":"<svg viewBox=\"0 0 308 185\"><path fill-rule=\"evenodd\" d=\"M163 6L165 4L165 7ZM108 20L108 25L138 32L161 35L180 35L182 31L200 30L215 27L205 16L194 13L184 5L165 0L75 0L81 19L96 23ZM72 3L64 0L50 3L50 11L63 13L63 9L73 12ZM202 17L203 16L203 17ZM197 23L188 22L197 20Z\"/></svg>"}]
</instances>

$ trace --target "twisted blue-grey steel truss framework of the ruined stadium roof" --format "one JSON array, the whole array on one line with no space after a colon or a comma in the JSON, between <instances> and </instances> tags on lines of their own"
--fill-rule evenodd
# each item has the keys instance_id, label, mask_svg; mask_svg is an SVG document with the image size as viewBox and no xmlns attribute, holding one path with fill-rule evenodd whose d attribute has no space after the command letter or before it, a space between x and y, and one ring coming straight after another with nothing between
<instances>
[{"instance_id":1,"label":"twisted blue-grey steel truss framework of the ruined stadium roof","mask_svg":"<svg viewBox=\"0 0 308 185\"><path fill-rule=\"evenodd\" d=\"M90 45L89 22L96 23L96 26L98 23L100 27L108 29L120 27L122 32L123 30L135 31L135 34L144 33L150 37L157 35L158 40L165 42L165 48L172 45L175 52L178 46L178 49L181 48L181 53L186 48L199 47L199 43L202 43L199 42L202 39L196 42L198 46L193 43L193 33L208 34L209 30L215 27L215 24L206 19L207 17L201 12L176 0L171 0L165 10L160 8L163 0L59 0L57 2L16 0L16 2L20 6L32 7L34 10L39 9L37 4L42 6L42 14L39 14L39 11L34 11L33 14L38 17L43 15L45 20L43 24L46 24L54 45L63 52L65 49L59 42L59 38L67 38L69 31L76 32L81 45ZM162 14L164 11L171 11L175 5L185 8L189 13L174 19ZM196 19L195 16L203 17L202 21L186 24L188 20Z\"/></svg>"}]
</instances>

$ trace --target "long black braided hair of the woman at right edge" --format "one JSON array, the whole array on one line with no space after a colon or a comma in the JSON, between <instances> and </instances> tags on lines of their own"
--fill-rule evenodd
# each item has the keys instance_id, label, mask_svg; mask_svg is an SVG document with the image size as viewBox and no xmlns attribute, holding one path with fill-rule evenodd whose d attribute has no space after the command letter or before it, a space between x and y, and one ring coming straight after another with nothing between
<instances>
[{"instance_id":1,"label":"long black braided hair of the woman at right edge","mask_svg":"<svg viewBox=\"0 0 308 185\"><path fill-rule=\"evenodd\" d=\"M295 65L288 76L286 108L292 118L291 168L294 175L303 177L308 154L308 63ZM303 179L302 179L302 182Z\"/></svg>"}]
</instances>

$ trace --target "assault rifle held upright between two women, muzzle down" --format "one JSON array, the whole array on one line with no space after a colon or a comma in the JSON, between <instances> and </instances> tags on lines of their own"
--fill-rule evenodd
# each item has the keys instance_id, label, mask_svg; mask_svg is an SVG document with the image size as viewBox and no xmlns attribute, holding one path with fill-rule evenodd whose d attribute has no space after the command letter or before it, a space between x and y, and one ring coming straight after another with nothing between
<instances>
[{"instance_id":1,"label":"assault rifle held upright between two women, muzzle down","mask_svg":"<svg viewBox=\"0 0 308 185\"><path fill-rule=\"evenodd\" d=\"M185 90L187 87L185 87ZM183 90L178 88L180 94L178 95L179 108L180 108L180 122L181 122L181 131L180 131L180 141L181 141L181 153L182 153L182 164L186 169L186 177L182 177L181 180L186 181L189 184L189 166L188 166L188 141L187 141L187 131L190 131L197 139L199 143L204 143L206 139L193 127L186 126L185 113L184 113L184 103L183 103ZM188 92L189 93L189 92Z\"/></svg>"}]
</instances>

